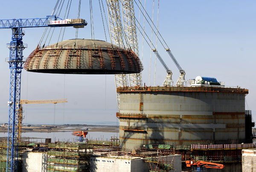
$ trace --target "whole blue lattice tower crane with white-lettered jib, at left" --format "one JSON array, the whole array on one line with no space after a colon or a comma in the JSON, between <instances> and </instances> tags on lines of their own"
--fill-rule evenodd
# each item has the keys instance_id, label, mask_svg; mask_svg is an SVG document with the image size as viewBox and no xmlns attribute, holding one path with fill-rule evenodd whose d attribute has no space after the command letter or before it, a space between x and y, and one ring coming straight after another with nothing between
<instances>
[{"instance_id":1,"label":"whole blue lattice tower crane with white-lettered jib, at left","mask_svg":"<svg viewBox=\"0 0 256 172\"><path fill-rule=\"evenodd\" d=\"M23 60L23 50L27 47L22 41L25 34L22 29L65 26L84 28L85 25L87 25L87 22L83 19L62 20L56 15L47 16L46 18L0 20L0 28L12 29L12 41L7 44L10 49L10 56L9 59L6 59L11 70L6 172L17 172L18 165L21 69L25 62Z\"/></svg>"}]
</instances>

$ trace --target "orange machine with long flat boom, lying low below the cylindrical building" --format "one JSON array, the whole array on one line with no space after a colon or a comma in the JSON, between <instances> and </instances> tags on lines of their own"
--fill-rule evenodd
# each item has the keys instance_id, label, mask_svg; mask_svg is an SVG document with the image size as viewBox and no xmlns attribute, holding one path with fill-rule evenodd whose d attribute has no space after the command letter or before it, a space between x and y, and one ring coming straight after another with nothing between
<instances>
[{"instance_id":1,"label":"orange machine with long flat boom, lying low below the cylindrical building","mask_svg":"<svg viewBox=\"0 0 256 172\"><path fill-rule=\"evenodd\" d=\"M205 162L205 161L186 161L186 166L190 167L192 166L192 172L204 172L203 168L213 168L213 169L223 169L223 164L216 164L211 162ZM197 167L195 167L197 166ZM194 167L194 168L193 168Z\"/></svg>"}]
</instances>

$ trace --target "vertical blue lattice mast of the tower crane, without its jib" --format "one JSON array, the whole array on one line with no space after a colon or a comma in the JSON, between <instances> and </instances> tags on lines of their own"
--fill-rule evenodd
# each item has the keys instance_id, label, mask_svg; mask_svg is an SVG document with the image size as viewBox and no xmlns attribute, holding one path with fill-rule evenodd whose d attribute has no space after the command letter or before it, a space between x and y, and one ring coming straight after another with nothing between
<instances>
[{"instance_id":1,"label":"vertical blue lattice mast of the tower crane, without its jib","mask_svg":"<svg viewBox=\"0 0 256 172\"><path fill-rule=\"evenodd\" d=\"M20 114L20 80L23 64L22 28L12 28L12 41L8 45L10 49L9 68L10 76L10 99L9 99L9 122L8 122L8 146L6 172L17 172L18 165L18 133Z\"/></svg>"}]
</instances>

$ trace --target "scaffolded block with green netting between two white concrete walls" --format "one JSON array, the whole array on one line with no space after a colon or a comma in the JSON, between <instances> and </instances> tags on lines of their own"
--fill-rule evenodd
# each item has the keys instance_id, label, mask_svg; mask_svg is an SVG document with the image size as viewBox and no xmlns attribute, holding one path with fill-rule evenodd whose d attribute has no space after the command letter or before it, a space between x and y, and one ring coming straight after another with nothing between
<instances>
[{"instance_id":1,"label":"scaffolded block with green netting between two white concrete walls","mask_svg":"<svg viewBox=\"0 0 256 172\"><path fill-rule=\"evenodd\" d=\"M92 146L87 143L49 143L48 172L88 171Z\"/></svg>"}]
</instances>

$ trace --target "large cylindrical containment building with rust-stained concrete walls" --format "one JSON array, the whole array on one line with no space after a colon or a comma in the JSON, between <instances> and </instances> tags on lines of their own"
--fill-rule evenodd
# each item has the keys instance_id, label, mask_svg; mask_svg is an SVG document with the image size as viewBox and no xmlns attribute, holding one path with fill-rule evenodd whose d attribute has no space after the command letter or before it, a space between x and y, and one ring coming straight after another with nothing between
<instances>
[{"instance_id":1,"label":"large cylindrical containment building with rust-stained concrete walls","mask_svg":"<svg viewBox=\"0 0 256 172\"><path fill-rule=\"evenodd\" d=\"M120 143L232 144L245 140L247 89L124 87L120 93Z\"/></svg>"}]
</instances>

